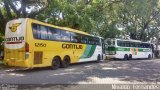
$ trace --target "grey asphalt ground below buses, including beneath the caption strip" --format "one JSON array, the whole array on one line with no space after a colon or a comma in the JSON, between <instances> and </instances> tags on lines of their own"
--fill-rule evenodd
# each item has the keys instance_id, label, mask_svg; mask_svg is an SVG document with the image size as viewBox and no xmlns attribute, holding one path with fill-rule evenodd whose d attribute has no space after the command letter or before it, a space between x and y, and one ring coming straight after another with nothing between
<instances>
[{"instance_id":1,"label":"grey asphalt ground below buses, including beneath the caption strip","mask_svg":"<svg viewBox=\"0 0 160 90\"><path fill-rule=\"evenodd\" d=\"M160 59L87 62L57 70L0 68L0 90L115 90L113 84L160 84Z\"/></svg>"}]
</instances>

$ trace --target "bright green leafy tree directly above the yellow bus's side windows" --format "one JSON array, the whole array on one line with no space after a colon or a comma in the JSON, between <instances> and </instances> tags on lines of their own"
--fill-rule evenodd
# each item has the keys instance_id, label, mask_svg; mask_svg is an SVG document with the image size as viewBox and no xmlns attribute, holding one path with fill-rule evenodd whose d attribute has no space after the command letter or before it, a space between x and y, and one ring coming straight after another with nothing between
<instances>
[{"instance_id":1,"label":"bright green leafy tree directly above the yellow bus's side windows","mask_svg":"<svg viewBox=\"0 0 160 90\"><path fill-rule=\"evenodd\" d=\"M37 19L105 38L114 38L119 36L120 31L116 27L117 17L114 17L116 6L112 8L113 11L108 9L109 1L54 0L44 12L37 16Z\"/></svg>"}]
</instances>

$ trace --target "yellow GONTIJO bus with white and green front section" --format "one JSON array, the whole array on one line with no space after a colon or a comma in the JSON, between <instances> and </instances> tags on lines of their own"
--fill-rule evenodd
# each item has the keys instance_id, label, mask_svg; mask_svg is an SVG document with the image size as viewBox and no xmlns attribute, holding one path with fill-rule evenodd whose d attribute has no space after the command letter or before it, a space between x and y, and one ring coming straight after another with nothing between
<instances>
[{"instance_id":1,"label":"yellow GONTIJO bus with white and green front section","mask_svg":"<svg viewBox=\"0 0 160 90\"><path fill-rule=\"evenodd\" d=\"M103 59L103 38L30 18L6 25L4 63L17 67L67 67Z\"/></svg>"}]
</instances>

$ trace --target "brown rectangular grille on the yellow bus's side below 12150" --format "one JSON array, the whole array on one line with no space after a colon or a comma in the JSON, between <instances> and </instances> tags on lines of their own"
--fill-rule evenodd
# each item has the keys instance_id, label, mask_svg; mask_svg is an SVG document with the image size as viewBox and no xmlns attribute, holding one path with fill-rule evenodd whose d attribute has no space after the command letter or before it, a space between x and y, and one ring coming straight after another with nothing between
<instances>
[{"instance_id":1,"label":"brown rectangular grille on the yellow bus's side below 12150","mask_svg":"<svg viewBox=\"0 0 160 90\"><path fill-rule=\"evenodd\" d=\"M34 64L42 64L43 52L34 52Z\"/></svg>"}]
</instances>

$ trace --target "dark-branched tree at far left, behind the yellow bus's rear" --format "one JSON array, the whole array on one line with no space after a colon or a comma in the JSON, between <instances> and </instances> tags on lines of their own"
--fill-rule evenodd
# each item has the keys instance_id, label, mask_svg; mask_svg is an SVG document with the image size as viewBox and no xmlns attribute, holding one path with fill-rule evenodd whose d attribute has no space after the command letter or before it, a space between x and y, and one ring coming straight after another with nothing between
<instances>
[{"instance_id":1,"label":"dark-branched tree at far left, behind the yellow bus's rear","mask_svg":"<svg viewBox=\"0 0 160 90\"><path fill-rule=\"evenodd\" d=\"M1 0L0 31L4 34L5 24L14 18L34 18L48 7L50 0Z\"/></svg>"}]
</instances>

